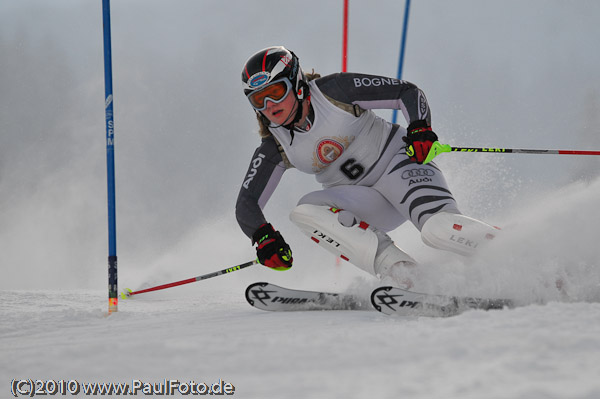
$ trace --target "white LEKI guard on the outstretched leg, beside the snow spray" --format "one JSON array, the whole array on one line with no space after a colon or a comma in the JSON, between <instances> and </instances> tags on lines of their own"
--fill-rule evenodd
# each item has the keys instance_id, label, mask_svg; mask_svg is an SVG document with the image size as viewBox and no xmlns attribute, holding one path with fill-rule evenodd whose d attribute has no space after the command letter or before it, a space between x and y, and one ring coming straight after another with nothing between
<instances>
[{"instance_id":1,"label":"white LEKI guard on the outstretched leg, beside the snow spray","mask_svg":"<svg viewBox=\"0 0 600 399\"><path fill-rule=\"evenodd\" d=\"M425 222L421 238L431 247L469 256L494 239L498 230L468 216L439 212Z\"/></svg>"}]
</instances>

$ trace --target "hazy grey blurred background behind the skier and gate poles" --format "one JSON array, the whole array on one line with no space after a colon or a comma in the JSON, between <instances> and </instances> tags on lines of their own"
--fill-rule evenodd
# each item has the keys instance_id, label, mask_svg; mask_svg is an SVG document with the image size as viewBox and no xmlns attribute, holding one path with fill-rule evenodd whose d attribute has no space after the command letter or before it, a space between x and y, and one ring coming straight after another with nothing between
<instances>
[{"instance_id":1,"label":"hazy grey blurred background behind the skier and gate poles","mask_svg":"<svg viewBox=\"0 0 600 399\"><path fill-rule=\"evenodd\" d=\"M304 70L339 72L342 11L342 0L112 1L121 287L255 257L234 217L259 143L242 66L261 48L285 45ZM396 76L403 13L401 1L350 0L349 71ZM427 95L442 142L599 150L599 20L592 0L413 1L403 78ZM0 3L1 289L106 289L102 45L100 0ZM437 163L462 211L491 224L538 212L532 220L544 228L529 233L539 237L569 212L557 220L565 229L533 252L583 245L589 267L598 265L598 158L444 154ZM291 271L256 267L199 284L341 288L366 278L288 221L317 189L313 177L288 171L265 209L294 250ZM392 236L417 259L444 259L413 226ZM552 251L540 260L548 259Z\"/></svg>"}]
</instances>

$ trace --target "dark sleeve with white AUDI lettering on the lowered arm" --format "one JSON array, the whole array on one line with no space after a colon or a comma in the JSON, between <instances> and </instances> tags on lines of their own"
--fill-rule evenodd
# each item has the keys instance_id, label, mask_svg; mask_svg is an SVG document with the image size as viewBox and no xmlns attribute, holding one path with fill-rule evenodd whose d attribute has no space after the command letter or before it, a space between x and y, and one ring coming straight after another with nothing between
<instances>
[{"instance_id":1,"label":"dark sleeve with white AUDI lettering on the lowered arm","mask_svg":"<svg viewBox=\"0 0 600 399\"><path fill-rule=\"evenodd\" d=\"M279 184L284 162L273 137L263 139L252 156L235 205L236 219L249 238L267 223L262 209Z\"/></svg>"}]
</instances>

